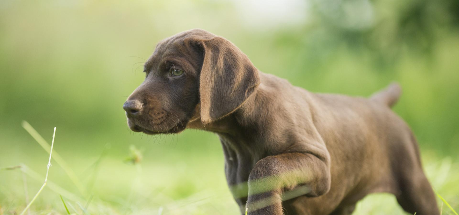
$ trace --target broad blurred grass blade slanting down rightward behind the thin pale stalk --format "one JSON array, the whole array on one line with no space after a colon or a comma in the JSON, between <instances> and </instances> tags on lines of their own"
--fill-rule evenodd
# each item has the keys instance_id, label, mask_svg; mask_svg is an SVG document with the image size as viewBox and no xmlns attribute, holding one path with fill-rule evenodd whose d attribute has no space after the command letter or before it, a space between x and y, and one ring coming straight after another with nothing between
<instances>
[{"instance_id":1,"label":"broad blurred grass blade slanting down rightward behind the thin pale stalk","mask_svg":"<svg viewBox=\"0 0 459 215\"><path fill-rule=\"evenodd\" d=\"M27 121L22 121L22 127L30 134L30 136L32 136L37 141L37 143L39 143L43 149L45 149L45 151L50 153L50 144L46 142L46 140L34 129L34 127L32 127ZM56 163L60 165L62 169L64 169L67 176L78 188L78 191L85 195L86 190L84 189L83 184L80 182L72 169L70 169L70 167L67 165L67 162L65 162L57 152L54 152L53 160L55 160Z\"/></svg>"}]
</instances>

